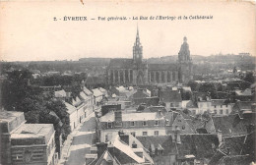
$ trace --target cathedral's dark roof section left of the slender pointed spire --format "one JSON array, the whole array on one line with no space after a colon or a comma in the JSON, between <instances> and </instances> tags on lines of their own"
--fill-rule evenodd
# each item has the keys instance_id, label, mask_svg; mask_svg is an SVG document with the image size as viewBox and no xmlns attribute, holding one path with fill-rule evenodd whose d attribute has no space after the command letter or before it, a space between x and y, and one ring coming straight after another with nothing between
<instances>
[{"instance_id":1,"label":"cathedral's dark roof section left of the slender pointed spire","mask_svg":"<svg viewBox=\"0 0 256 165\"><path fill-rule=\"evenodd\" d=\"M111 59L110 69L130 69L133 67L133 59Z\"/></svg>"}]
</instances>

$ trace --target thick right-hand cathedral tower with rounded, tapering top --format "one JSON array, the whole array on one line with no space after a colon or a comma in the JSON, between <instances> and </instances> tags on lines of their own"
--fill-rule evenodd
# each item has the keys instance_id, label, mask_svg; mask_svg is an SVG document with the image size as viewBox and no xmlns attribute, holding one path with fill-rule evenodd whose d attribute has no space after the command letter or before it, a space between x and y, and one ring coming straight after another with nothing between
<instances>
[{"instance_id":1,"label":"thick right-hand cathedral tower with rounded, tapering top","mask_svg":"<svg viewBox=\"0 0 256 165\"><path fill-rule=\"evenodd\" d=\"M186 36L183 38L183 44L178 53L178 69L179 83L188 83L193 79L192 59L190 58L189 45Z\"/></svg>"}]
</instances>

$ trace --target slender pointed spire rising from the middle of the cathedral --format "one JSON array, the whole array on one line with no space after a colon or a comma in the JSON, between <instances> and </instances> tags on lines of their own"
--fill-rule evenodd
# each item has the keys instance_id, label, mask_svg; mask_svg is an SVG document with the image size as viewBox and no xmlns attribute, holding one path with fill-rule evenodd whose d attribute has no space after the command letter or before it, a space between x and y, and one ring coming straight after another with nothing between
<instances>
[{"instance_id":1,"label":"slender pointed spire rising from the middle of the cathedral","mask_svg":"<svg viewBox=\"0 0 256 165\"><path fill-rule=\"evenodd\" d=\"M139 35L139 28L137 26L137 34L136 34L136 40L133 45L133 63L140 65L142 63L143 55L143 46L140 42L140 35Z\"/></svg>"}]
</instances>

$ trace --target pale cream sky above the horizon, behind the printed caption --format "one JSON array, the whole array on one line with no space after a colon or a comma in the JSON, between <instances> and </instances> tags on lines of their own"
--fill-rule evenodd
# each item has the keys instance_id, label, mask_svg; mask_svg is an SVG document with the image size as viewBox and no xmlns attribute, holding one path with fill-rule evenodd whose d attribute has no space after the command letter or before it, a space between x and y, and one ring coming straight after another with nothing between
<instances>
[{"instance_id":1,"label":"pale cream sky above the horizon, behind the printed caption","mask_svg":"<svg viewBox=\"0 0 256 165\"><path fill-rule=\"evenodd\" d=\"M255 5L250 2L84 2L0 2L0 59L132 58L137 24L144 58L177 55L184 36L193 55L256 55ZM213 16L213 20L177 20L196 15ZM88 21L53 21L65 16ZM116 16L176 20L97 21L97 17Z\"/></svg>"}]
</instances>

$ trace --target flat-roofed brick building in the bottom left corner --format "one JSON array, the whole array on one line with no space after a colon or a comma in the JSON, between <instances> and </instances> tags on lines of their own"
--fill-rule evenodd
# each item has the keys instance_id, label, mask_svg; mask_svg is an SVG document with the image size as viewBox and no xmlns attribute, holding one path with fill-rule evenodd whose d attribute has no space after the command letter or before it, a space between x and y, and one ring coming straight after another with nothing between
<instances>
[{"instance_id":1,"label":"flat-roofed brick building in the bottom left corner","mask_svg":"<svg viewBox=\"0 0 256 165\"><path fill-rule=\"evenodd\" d=\"M53 125L25 123L23 112L0 112L0 164L57 164L58 154L56 153Z\"/></svg>"}]
</instances>

